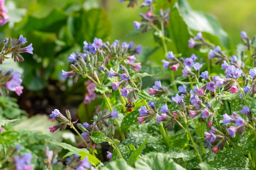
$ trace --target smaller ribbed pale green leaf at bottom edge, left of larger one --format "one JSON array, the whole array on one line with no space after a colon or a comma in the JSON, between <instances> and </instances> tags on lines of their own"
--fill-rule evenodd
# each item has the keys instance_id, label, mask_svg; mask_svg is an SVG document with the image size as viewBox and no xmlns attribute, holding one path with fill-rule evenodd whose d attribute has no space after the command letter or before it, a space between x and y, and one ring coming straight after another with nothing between
<instances>
[{"instance_id":1,"label":"smaller ribbed pale green leaf at bottom edge, left of larger one","mask_svg":"<svg viewBox=\"0 0 256 170\"><path fill-rule=\"evenodd\" d=\"M117 160L117 161L112 161L106 166L103 166L101 170L135 170L131 166L129 166L126 161L123 159Z\"/></svg>"}]
</instances>

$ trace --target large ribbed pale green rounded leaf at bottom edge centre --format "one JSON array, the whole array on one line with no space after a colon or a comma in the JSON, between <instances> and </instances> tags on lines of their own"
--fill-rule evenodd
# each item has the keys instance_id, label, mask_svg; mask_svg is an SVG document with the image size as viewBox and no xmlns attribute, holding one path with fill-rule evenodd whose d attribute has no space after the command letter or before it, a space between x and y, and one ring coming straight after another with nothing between
<instances>
[{"instance_id":1,"label":"large ribbed pale green rounded leaf at bottom edge centre","mask_svg":"<svg viewBox=\"0 0 256 170\"><path fill-rule=\"evenodd\" d=\"M185 170L175 163L170 155L157 152L143 155L135 162L135 167L138 170Z\"/></svg>"}]
</instances>

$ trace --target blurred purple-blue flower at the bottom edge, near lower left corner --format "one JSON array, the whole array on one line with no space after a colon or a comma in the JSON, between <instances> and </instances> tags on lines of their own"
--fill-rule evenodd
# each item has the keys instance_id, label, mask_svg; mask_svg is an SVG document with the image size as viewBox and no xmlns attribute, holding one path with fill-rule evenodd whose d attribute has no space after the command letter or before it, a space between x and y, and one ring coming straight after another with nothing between
<instances>
[{"instance_id":1,"label":"blurred purple-blue flower at the bottom edge, near lower left corner","mask_svg":"<svg viewBox=\"0 0 256 170\"><path fill-rule=\"evenodd\" d=\"M25 153L21 158L16 157L16 170L33 170L33 164L29 165L32 160L31 153Z\"/></svg>"}]
</instances>

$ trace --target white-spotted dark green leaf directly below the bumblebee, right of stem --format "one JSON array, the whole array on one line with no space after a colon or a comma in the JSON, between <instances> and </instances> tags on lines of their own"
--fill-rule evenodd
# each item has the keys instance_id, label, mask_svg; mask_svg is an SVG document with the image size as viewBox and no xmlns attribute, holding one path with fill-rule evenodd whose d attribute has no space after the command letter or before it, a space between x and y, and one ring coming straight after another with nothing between
<instances>
[{"instance_id":1,"label":"white-spotted dark green leaf directly below the bumblebee, right of stem","mask_svg":"<svg viewBox=\"0 0 256 170\"><path fill-rule=\"evenodd\" d=\"M121 131L124 132L127 128L129 128L133 124L139 124L137 117L139 117L138 111L133 111L128 113L128 115L126 115L122 120Z\"/></svg>"}]
</instances>

